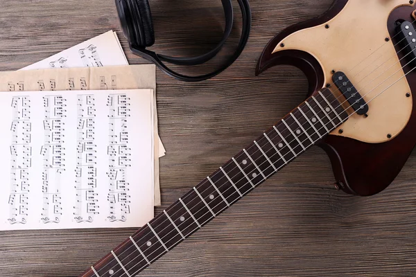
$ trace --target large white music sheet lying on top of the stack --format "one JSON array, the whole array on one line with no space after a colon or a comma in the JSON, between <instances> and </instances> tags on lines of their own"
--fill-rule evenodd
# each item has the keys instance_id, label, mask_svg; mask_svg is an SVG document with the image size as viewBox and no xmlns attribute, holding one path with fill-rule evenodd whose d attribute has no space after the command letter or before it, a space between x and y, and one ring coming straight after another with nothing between
<instances>
[{"instance_id":1,"label":"large white music sheet lying on top of the stack","mask_svg":"<svg viewBox=\"0 0 416 277\"><path fill-rule=\"evenodd\" d=\"M0 229L151 220L153 100L151 89L1 92Z\"/></svg>"}]
</instances>

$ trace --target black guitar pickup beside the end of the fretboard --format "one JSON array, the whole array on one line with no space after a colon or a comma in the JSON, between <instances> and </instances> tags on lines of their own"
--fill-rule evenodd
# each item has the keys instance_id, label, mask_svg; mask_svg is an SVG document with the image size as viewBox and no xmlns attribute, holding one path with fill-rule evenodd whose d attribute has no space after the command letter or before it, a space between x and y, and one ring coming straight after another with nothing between
<instances>
[{"instance_id":1,"label":"black guitar pickup beside the end of the fretboard","mask_svg":"<svg viewBox=\"0 0 416 277\"><path fill-rule=\"evenodd\" d=\"M338 71L333 74L332 81L336 87L343 93L343 96L349 102L349 105L356 111L357 114L367 114L368 105L361 94L357 91L345 73Z\"/></svg>"}]
</instances>

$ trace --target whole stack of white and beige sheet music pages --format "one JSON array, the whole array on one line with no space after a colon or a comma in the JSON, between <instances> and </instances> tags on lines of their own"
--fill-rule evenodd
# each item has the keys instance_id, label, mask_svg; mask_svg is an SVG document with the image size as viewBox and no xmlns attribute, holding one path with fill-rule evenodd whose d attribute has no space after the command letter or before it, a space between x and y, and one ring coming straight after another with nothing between
<instances>
[{"instance_id":1,"label":"whole stack of white and beige sheet music pages","mask_svg":"<svg viewBox=\"0 0 416 277\"><path fill-rule=\"evenodd\" d=\"M155 66L127 64L109 31L0 73L0 132L10 134L0 144L10 157L0 159L10 176L0 229L132 227L153 217L165 153Z\"/></svg>"}]
</instances>

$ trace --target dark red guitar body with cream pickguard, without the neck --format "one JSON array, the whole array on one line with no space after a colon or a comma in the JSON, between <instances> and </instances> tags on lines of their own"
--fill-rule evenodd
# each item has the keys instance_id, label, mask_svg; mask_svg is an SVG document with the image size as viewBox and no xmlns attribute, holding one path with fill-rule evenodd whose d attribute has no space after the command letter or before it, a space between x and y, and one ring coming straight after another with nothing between
<instances>
[{"instance_id":1,"label":"dark red guitar body with cream pickguard, without the neck","mask_svg":"<svg viewBox=\"0 0 416 277\"><path fill-rule=\"evenodd\" d=\"M324 15L276 35L260 57L257 74L297 66L309 80L309 95L329 87L341 102L331 78L343 71L368 102L368 114L350 108L349 120L320 143L346 193L381 192L415 147L416 71L397 37L397 26L413 22L414 11L413 1L336 0Z\"/></svg>"}]
</instances>

